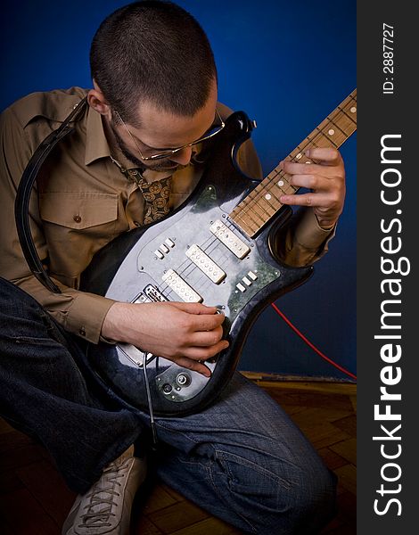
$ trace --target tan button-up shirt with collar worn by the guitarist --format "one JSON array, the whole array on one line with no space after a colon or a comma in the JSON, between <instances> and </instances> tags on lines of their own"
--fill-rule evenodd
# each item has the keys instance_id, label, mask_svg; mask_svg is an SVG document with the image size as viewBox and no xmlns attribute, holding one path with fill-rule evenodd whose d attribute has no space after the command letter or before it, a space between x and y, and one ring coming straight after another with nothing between
<instances>
[{"instance_id":1,"label":"tan button-up shirt with collar worn by the guitarist","mask_svg":"<svg viewBox=\"0 0 419 535\"><path fill-rule=\"evenodd\" d=\"M96 343L114 301L78 291L80 275L96 251L121 233L141 226L144 218L144 197L138 185L128 181L111 161L99 113L88 108L76 123L75 132L55 146L38 175L30 201L34 242L61 294L50 292L32 276L14 224L16 189L31 155L85 95L86 90L79 87L34 93L13 103L1 116L0 276L31 294L65 329ZM220 111L228 114L221 104ZM245 145L240 152L242 169L260 177L253 145ZM202 169L202 165L191 164L177 170L171 207L193 191ZM155 171L146 171L144 176L149 181L164 177ZM289 264L312 263L325 253L331 235L318 226L313 212L306 210L298 226L283 232L278 251Z\"/></svg>"}]
</instances>

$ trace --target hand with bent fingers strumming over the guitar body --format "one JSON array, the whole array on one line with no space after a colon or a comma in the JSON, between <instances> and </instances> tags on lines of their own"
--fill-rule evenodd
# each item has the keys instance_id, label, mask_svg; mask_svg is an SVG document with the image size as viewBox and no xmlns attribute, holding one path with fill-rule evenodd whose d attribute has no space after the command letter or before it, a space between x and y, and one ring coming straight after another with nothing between
<instances>
[{"instance_id":1,"label":"hand with bent fingers strumming over the guitar body","mask_svg":"<svg viewBox=\"0 0 419 535\"><path fill-rule=\"evenodd\" d=\"M209 377L209 368L199 361L228 347L221 339L224 319L215 307L200 303L116 302L103 321L102 334Z\"/></svg>"}]
</instances>

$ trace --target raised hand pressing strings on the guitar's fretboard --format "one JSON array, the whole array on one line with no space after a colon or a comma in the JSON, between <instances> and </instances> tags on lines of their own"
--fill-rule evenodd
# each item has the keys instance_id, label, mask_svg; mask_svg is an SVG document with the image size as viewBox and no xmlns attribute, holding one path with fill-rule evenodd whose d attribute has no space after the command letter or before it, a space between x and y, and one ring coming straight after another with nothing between
<instances>
[{"instance_id":1,"label":"raised hand pressing strings on the guitar's fretboard","mask_svg":"<svg viewBox=\"0 0 419 535\"><path fill-rule=\"evenodd\" d=\"M345 200L345 168L341 153L333 148L316 147L305 154L313 163L282 161L280 167L290 175L291 185L306 187L311 192L283 195L280 201L311 207L318 224L328 228L338 220Z\"/></svg>"}]
</instances>

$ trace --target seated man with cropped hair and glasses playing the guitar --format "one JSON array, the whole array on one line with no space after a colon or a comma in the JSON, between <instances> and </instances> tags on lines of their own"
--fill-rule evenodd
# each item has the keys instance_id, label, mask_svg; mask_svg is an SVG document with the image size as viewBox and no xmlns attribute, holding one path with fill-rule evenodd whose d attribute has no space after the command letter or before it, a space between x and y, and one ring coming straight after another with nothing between
<instances>
[{"instance_id":1,"label":"seated man with cropped hair and glasses playing the guitar","mask_svg":"<svg viewBox=\"0 0 419 535\"><path fill-rule=\"evenodd\" d=\"M166 215L199 181L208 138L229 113L218 103L207 37L175 4L128 4L96 32L91 70L89 91L12 104L0 139L0 275L13 283L0 285L2 414L45 445L79 493L62 531L79 535L127 533L150 434L147 415L94 383L83 341L128 342L207 376L204 361L228 345L211 303L132 304L78 290L94 252ZM62 291L53 293L22 257L14 198L37 145L85 95L88 110L45 161L30 204L37 251ZM295 265L324 254L344 200L339 152L314 149L310 158L317 163L283 163L293 185L312 190L281 199L304 207L277 240ZM260 174L250 143L240 163ZM156 191L168 205L153 204ZM156 425L161 479L241 531L316 533L333 514L332 474L281 407L241 375L200 414Z\"/></svg>"}]
</instances>

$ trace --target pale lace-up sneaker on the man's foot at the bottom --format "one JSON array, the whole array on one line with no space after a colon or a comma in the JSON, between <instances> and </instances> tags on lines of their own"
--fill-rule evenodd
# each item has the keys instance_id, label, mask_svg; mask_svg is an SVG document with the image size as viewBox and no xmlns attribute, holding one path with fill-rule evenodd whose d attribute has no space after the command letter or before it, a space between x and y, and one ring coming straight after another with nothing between
<instances>
[{"instance_id":1,"label":"pale lace-up sneaker on the man's foot at the bottom","mask_svg":"<svg viewBox=\"0 0 419 535\"><path fill-rule=\"evenodd\" d=\"M79 495L62 526L62 535L127 535L136 490L145 479L145 459L127 449L103 470L102 477Z\"/></svg>"}]
</instances>

